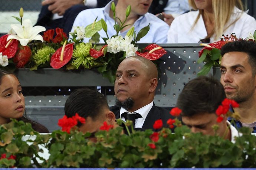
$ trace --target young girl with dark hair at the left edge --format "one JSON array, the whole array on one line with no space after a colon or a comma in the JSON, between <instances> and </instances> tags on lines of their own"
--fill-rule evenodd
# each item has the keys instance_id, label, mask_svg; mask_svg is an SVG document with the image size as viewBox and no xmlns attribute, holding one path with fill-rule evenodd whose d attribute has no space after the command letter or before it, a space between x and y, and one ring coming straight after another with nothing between
<instances>
[{"instance_id":1,"label":"young girl with dark hair at the left edge","mask_svg":"<svg viewBox=\"0 0 256 170\"><path fill-rule=\"evenodd\" d=\"M48 133L43 125L26 118L22 86L16 75L0 70L0 125L10 122L10 118L29 122L40 133Z\"/></svg>"}]
</instances>

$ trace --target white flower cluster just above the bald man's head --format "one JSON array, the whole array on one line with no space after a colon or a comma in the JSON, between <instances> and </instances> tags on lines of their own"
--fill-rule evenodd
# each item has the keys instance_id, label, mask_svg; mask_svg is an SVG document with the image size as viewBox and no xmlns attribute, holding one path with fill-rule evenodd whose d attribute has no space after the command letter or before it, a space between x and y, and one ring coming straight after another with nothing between
<instances>
[{"instance_id":1,"label":"white flower cluster just above the bald man's head","mask_svg":"<svg viewBox=\"0 0 256 170\"><path fill-rule=\"evenodd\" d=\"M135 55L135 52L138 50L138 47L134 47L134 44L131 44L133 37L128 37L127 35L123 38L121 35L117 37L112 37L108 39L106 43L107 52L112 52L114 54L124 51L126 53L125 57L130 57Z\"/></svg>"}]
</instances>

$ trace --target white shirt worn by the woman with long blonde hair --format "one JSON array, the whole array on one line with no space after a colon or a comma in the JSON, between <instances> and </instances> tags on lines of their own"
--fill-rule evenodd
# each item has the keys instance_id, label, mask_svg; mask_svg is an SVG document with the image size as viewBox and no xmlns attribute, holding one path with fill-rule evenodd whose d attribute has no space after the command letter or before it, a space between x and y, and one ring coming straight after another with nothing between
<instances>
[{"instance_id":1,"label":"white shirt worn by the woman with long blonde hair","mask_svg":"<svg viewBox=\"0 0 256 170\"><path fill-rule=\"evenodd\" d=\"M198 43L198 41L204 39L207 36L207 31L202 16L198 19L194 29L191 30L198 13L199 11L190 11L176 17L168 31L167 43ZM249 33L254 33L256 28L255 18L239 10L237 7L234 8L226 26L229 26L239 16L240 18L224 31L224 35L236 33L237 38L246 38ZM217 39L213 37L210 38L210 43L219 41L222 36L220 35Z\"/></svg>"}]
</instances>

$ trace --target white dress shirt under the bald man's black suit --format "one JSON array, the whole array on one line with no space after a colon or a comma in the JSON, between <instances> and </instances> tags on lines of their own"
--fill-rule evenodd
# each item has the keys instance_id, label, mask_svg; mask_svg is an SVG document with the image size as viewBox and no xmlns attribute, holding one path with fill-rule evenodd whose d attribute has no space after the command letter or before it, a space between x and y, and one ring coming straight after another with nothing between
<instances>
[{"instance_id":1,"label":"white dress shirt under the bald man's black suit","mask_svg":"<svg viewBox=\"0 0 256 170\"><path fill-rule=\"evenodd\" d=\"M148 112L150 111L152 106L153 106L153 102L151 102L148 105L145 105L144 107L134 111L136 113L139 113L142 116L142 118L135 119L134 128L142 128L142 126L145 122L145 119L148 115ZM125 112L128 112L128 111L126 109L124 109L123 107L121 107L121 109L120 109L120 118L124 121L125 121L125 119L122 117L122 114L125 113ZM128 113L131 113L131 112L128 112Z\"/></svg>"}]
</instances>

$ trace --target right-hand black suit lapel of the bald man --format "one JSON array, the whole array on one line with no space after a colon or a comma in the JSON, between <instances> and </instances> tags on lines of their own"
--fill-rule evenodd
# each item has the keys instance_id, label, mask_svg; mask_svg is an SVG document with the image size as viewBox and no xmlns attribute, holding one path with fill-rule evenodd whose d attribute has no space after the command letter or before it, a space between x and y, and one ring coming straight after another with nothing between
<instances>
[{"instance_id":1,"label":"right-hand black suit lapel of the bald man","mask_svg":"<svg viewBox=\"0 0 256 170\"><path fill-rule=\"evenodd\" d=\"M142 126L142 129L153 129L153 125L155 123L155 120L161 119L161 115L157 107L155 106L155 103L153 103L152 108L148 112L148 115L145 119L145 122Z\"/></svg>"}]
</instances>

